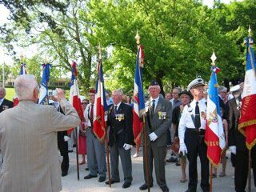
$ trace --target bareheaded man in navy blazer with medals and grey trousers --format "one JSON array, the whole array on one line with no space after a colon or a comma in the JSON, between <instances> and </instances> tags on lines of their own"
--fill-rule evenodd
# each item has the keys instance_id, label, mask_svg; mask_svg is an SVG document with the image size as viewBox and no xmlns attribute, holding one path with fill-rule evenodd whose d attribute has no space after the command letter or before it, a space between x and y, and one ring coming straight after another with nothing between
<instances>
[{"instance_id":1,"label":"bareheaded man in navy blazer with medals and grey trousers","mask_svg":"<svg viewBox=\"0 0 256 192\"><path fill-rule=\"evenodd\" d=\"M134 144L133 113L131 106L122 102L122 94L122 90L113 91L114 104L110 107L110 113L107 118L107 125L110 128L110 182L120 182L118 171L118 156L120 155L125 180L122 188L128 188L133 180L130 158L130 148ZM109 184L109 181L106 184Z\"/></svg>"}]
</instances>

